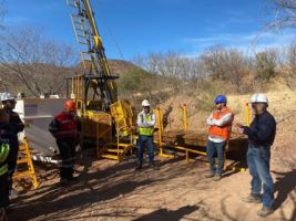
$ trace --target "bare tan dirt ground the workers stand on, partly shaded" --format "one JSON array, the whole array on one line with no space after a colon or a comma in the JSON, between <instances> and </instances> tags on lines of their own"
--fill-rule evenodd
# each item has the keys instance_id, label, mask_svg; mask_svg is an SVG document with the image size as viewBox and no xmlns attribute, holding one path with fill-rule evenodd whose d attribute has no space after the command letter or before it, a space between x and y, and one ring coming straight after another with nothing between
<instances>
[{"instance_id":1,"label":"bare tan dirt ground the workers stand on, partly shaded","mask_svg":"<svg viewBox=\"0 0 296 221\"><path fill-rule=\"evenodd\" d=\"M288 94L285 99L289 99ZM232 98L235 101L235 98ZM276 95L272 104L278 105ZM294 103L285 110L274 109L278 133L272 150L275 181L275 212L262 219L261 204L247 204L241 198L249 193L246 172L226 172L214 182L204 178L206 160L190 162L183 156L156 157L160 170L145 167L134 171L134 159L86 161L79 166L80 181L59 185L58 171L42 166L38 190L20 193L8 213L17 220L150 220L150 221L296 221L296 114ZM272 106L272 105L271 105ZM273 110L273 109L272 109ZM92 161L92 164L90 164Z\"/></svg>"}]
</instances>

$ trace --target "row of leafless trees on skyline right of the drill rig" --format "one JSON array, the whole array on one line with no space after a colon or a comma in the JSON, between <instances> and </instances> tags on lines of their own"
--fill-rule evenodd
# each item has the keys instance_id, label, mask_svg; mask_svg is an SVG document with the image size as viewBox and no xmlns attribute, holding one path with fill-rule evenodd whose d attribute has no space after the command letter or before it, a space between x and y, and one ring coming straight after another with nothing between
<instances>
[{"instance_id":1,"label":"row of leafless trees on skyline right of the drill rig","mask_svg":"<svg viewBox=\"0 0 296 221\"><path fill-rule=\"evenodd\" d=\"M177 52L152 53L146 59L137 56L136 63L150 73L163 76L174 91L188 86L196 90L202 80L211 76L212 80L228 81L241 92L245 86L242 78L248 74L244 53L223 46L210 48L196 57Z\"/></svg>"}]
</instances>

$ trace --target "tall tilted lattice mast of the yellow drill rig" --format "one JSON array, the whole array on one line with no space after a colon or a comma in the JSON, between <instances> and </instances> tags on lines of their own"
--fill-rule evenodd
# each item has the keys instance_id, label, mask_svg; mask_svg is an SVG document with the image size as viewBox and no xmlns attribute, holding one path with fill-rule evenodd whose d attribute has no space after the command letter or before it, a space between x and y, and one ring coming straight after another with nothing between
<instances>
[{"instance_id":1,"label":"tall tilted lattice mast of the yellow drill rig","mask_svg":"<svg viewBox=\"0 0 296 221\"><path fill-rule=\"evenodd\" d=\"M111 75L90 0L67 0L67 2L76 9L76 12L71 14L71 20L76 41L82 45L81 59L85 86L81 98L86 104L90 96L92 99L99 96L102 102L102 110L109 110L110 105L118 102L114 82L118 77ZM93 91L92 95L90 95L90 90Z\"/></svg>"}]
</instances>

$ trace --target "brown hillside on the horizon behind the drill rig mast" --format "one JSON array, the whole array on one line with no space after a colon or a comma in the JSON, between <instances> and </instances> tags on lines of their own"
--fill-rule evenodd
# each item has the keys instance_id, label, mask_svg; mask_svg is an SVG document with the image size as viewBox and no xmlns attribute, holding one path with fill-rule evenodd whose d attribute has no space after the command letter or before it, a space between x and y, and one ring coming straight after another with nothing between
<instances>
[{"instance_id":1,"label":"brown hillside on the horizon behind the drill rig mast","mask_svg":"<svg viewBox=\"0 0 296 221\"><path fill-rule=\"evenodd\" d=\"M123 76L130 70L136 69L134 64L126 61L109 60L108 62L111 73L114 75ZM9 69L0 65L0 91L10 91L14 94L24 92L27 96L32 96L32 92L25 87L25 80L37 94L51 93L63 96L65 93L65 78L83 73L82 63L72 67L55 66L47 63L9 64Z\"/></svg>"}]
</instances>

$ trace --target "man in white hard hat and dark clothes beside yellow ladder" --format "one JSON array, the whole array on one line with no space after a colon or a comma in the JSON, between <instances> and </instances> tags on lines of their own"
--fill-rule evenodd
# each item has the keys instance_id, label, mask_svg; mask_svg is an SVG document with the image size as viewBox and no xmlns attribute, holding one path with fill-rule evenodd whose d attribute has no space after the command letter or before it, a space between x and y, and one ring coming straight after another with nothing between
<instances>
[{"instance_id":1,"label":"man in white hard hat and dark clothes beside yellow ladder","mask_svg":"<svg viewBox=\"0 0 296 221\"><path fill-rule=\"evenodd\" d=\"M19 138L18 134L23 130L24 124L20 119L18 113L13 112L17 101L11 93L4 92L1 94L3 109L9 115L10 133L12 134L10 152L8 157L8 175L10 180L10 191L12 190L12 177L17 167L18 152L19 152Z\"/></svg>"}]
</instances>

